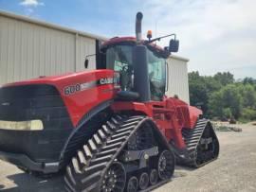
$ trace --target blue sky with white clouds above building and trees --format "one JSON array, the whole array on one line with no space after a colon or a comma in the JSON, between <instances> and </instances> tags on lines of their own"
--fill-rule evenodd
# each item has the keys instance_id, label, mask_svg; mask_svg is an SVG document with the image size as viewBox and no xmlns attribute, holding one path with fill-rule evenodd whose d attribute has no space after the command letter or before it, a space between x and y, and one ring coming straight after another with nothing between
<instances>
[{"instance_id":1,"label":"blue sky with white clouds above building and trees","mask_svg":"<svg viewBox=\"0 0 256 192\"><path fill-rule=\"evenodd\" d=\"M105 37L134 35L142 11L144 37L175 32L190 71L236 79L256 78L255 8L255 0L0 0L0 9Z\"/></svg>"}]
</instances>

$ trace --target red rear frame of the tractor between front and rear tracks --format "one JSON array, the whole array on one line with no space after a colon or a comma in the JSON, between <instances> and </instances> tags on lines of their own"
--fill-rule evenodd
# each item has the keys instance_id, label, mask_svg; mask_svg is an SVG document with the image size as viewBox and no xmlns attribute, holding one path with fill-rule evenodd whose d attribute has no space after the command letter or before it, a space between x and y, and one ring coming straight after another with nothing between
<instances>
[{"instance_id":1,"label":"red rear frame of the tractor between front and rear tracks","mask_svg":"<svg viewBox=\"0 0 256 192\"><path fill-rule=\"evenodd\" d=\"M168 141L174 140L177 148L186 147L181 134L182 129L193 129L198 116L202 114L202 111L173 97L147 103L114 102L111 107L116 113L134 111L152 117Z\"/></svg>"}]
</instances>

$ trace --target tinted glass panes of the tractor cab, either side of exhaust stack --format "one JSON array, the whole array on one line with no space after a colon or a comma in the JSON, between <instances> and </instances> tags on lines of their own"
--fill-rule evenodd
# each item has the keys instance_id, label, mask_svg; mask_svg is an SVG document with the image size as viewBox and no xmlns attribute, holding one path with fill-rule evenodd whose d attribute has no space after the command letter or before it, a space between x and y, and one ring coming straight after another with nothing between
<instances>
[{"instance_id":1,"label":"tinted glass panes of the tractor cab, either side of exhaust stack","mask_svg":"<svg viewBox=\"0 0 256 192\"><path fill-rule=\"evenodd\" d=\"M133 57L132 45L115 45L106 50L106 68L119 72L121 90L133 90ZM150 79L151 99L161 100L165 94L166 64L152 50L147 50L148 75Z\"/></svg>"}]
</instances>

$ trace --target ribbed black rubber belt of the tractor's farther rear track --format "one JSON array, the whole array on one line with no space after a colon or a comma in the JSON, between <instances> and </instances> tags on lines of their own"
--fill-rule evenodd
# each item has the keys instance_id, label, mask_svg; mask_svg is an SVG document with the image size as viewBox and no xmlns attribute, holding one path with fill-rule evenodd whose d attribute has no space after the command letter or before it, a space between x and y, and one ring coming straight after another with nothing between
<instances>
[{"instance_id":1,"label":"ribbed black rubber belt of the tractor's farther rear track","mask_svg":"<svg viewBox=\"0 0 256 192\"><path fill-rule=\"evenodd\" d=\"M206 164L209 164L211 161L214 161L217 159L218 156L211 159L208 162L205 162L203 164L197 165L196 163L196 148L199 144L199 141L203 135L203 132L206 129L207 124L209 123L208 119L199 119L196 123L196 126L192 130L183 129L182 130L182 136L185 140L187 150L189 152L189 159L183 162L183 164L187 166L194 166L194 167L200 167L205 166ZM215 135L216 136L216 135Z\"/></svg>"}]
</instances>

